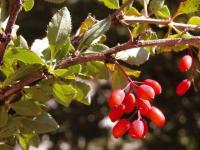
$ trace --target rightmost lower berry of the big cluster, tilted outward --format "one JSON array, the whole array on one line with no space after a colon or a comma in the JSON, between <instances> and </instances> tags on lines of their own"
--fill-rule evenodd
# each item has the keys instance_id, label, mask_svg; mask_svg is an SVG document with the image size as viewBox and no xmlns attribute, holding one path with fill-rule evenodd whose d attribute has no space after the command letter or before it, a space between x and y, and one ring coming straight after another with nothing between
<instances>
[{"instance_id":1,"label":"rightmost lower berry of the big cluster, tilted outward","mask_svg":"<svg viewBox=\"0 0 200 150\"><path fill-rule=\"evenodd\" d=\"M148 113L148 117L158 127L164 126L166 121L162 111L154 106L151 107L151 110Z\"/></svg>"}]
</instances>

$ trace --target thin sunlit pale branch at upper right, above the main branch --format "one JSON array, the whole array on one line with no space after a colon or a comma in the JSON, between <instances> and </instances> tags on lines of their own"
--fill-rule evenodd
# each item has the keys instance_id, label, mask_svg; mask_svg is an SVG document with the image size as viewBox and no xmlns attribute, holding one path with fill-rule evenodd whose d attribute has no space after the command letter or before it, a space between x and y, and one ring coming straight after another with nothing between
<instances>
[{"instance_id":1,"label":"thin sunlit pale branch at upper right, above the main branch","mask_svg":"<svg viewBox=\"0 0 200 150\"><path fill-rule=\"evenodd\" d=\"M169 26L174 26L178 29L186 29L188 31L200 31L199 25L171 22L171 20L167 20L167 19L154 19L154 18L148 18L148 17L124 16L123 21L127 24L148 23L148 24L166 25L166 26L169 25Z\"/></svg>"}]
</instances>

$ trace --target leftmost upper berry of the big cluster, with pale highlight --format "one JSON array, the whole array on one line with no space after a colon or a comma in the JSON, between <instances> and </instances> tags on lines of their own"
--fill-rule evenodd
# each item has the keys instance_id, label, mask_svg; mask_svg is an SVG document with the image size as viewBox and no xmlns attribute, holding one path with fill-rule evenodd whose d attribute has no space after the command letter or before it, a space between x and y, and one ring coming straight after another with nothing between
<instances>
[{"instance_id":1,"label":"leftmost upper berry of the big cluster, with pale highlight","mask_svg":"<svg viewBox=\"0 0 200 150\"><path fill-rule=\"evenodd\" d=\"M110 108L113 108L116 105L120 105L124 100L125 93L123 90L118 89L114 90L108 100Z\"/></svg>"}]
</instances>

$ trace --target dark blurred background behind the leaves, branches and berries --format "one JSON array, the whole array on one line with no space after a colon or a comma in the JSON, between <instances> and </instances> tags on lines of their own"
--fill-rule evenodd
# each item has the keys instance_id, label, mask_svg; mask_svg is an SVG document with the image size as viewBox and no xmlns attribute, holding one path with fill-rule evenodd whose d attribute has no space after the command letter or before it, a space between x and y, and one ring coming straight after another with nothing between
<instances>
[{"instance_id":1,"label":"dark blurred background behind the leaves, branches and berries","mask_svg":"<svg viewBox=\"0 0 200 150\"><path fill-rule=\"evenodd\" d=\"M166 0L174 12L182 0ZM61 7L67 6L71 12L73 32L86 18L88 13L103 19L112 11L97 0L67 0L63 4L50 4L43 0L35 1L34 9L22 12L17 24L21 26L19 34L23 35L29 45L36 38L43 38L52 15ZM126 30L118 26L112 28L107 36L109 46L127 41ZM177 69L177 61L186 51L181 53L160 54L139 67L142 75L137 80L152 78L159 81L163 94L158 96L154 104L166 115L167 124L159 129L149 122L150 131L146 139L135 140L128 136L115 140L111 136L112 124L106 120L108 114L107 99L111 92L109 82L98 81L94 85L92 105L84 106L73 102L64 108L49 101L50 113L61 125L57 132L42 135L41 150L198 150L200 149L200 96L199 92L190 91L178 97L176 85L186 78L186 74ZM138 69L138 67L136 67ZM198 84L198 75L196 83ZM44 145L47 145L44 148ZM43 149L42 149L43 148Z\"/></svg>"}]
</instances>

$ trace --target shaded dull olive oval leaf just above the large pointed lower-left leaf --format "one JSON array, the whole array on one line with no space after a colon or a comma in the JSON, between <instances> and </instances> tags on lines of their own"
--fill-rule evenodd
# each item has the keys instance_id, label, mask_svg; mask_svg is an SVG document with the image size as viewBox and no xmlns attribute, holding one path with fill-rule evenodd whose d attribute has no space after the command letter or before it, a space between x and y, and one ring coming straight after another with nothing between
<instances>
[{"instance_id":1,"label":"shaded dull olive oval leaf just above the large pointed lower-left leaf","mask_svg":"<svg viewBox=\"0 0 200 150\"><path fill-rule=\"evenodd\" d=\"M11 104L11 108L22 116L38 116L43 113L40 105L31 100L20 100Z\"/></svg>"}]
</instances>

